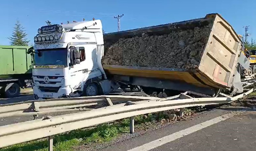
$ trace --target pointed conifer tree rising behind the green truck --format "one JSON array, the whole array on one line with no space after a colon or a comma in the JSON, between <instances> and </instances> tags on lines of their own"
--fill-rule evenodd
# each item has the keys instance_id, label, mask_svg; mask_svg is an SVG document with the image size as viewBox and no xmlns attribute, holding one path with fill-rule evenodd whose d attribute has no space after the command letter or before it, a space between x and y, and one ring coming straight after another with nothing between
<instances>
[{"instance_id":1,"label":"pointed conifer tree rising behind the green truck","mask_svg":"<svg viewBox=\"0 0 256 151\"><path fill-rule=\"evenodd\" d=\"M8 37L10 44L13 46L28 46L27 33L22 27L19 20L16 21L11 37Z\"/></svg>"}]
</instances>

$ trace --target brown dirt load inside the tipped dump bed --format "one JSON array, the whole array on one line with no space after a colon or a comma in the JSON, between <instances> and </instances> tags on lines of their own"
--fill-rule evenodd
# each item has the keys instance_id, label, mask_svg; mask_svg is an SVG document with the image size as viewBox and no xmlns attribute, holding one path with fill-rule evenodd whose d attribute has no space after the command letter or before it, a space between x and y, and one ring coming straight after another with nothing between
<instances>
[{"instance_id":1,"label":"brown dirt load inside the tipped dump bed","mask_svg":"<svg viewBox=\"0 0 256 151\"><path fill-rule=\"evenodd\" d=\"M168 35L142 34L105 46L103 64L164 68L195 68L209 39L211 26L172 31Z\"/></svg>"}]
</instances>

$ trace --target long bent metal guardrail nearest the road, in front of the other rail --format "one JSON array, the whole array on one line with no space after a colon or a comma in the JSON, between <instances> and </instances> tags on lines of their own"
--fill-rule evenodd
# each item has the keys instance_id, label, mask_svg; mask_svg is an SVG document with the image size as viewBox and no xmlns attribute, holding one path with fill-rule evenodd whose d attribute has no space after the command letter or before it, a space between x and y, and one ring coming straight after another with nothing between
<instances>
[{"instance_id":1,"label":"long bent metal guardrail nearest the road, in front of the other rail","mask_svg":"<svg viewBox=\"0 0 256 151\"><path fill-rule=\"evenodd\" d=\"M86 127L91 127L93 125L114 121L122 118L127 118L127 117L130 117L130 123L131 123L130 131L131 133L133 133L134 132L134 125L133 125L134 116L136 115L170 110L170 109L177 109L177 108L181 108L181 111L183 111L183 108L185 107L230 103L232 101L235 101L239 98L242 98L248 95L254 90L256 90L256 88L250 89L246 93L240 94L235 97L227 96L227 97L215 97L215 98L210 98L210 97L192 98L191 96L189 96L189 94L191 93L196 94L196 93L186 92L177 96L162 98L162 99L160 98L152 99L152 97L143 97L143 98L139 98L140 101L138 101L138 97L134 97L134 96L125 96L125 97L114 96L112 98L109 96L100 96L100 97L104 97L104 99L111 98L112 100L107 99L107 102L109 102L110 105L107 107L102 107L102 108L85 111L85 112L60 115L55 117L43 118L43 119L36 119L32 121L26 121L26 122L1 126L0 127L0 147L5 147L13 144L26 142L26 141L49 137L49 144L50 144L49 150L51 150L53 146L52 139L53 139L53 136L56 134L68 132L71 130L86 128ZM119 97L119 98L116 98L116 97ZM131 98L131 97L134 97L134 98ZM113 105L113 100L115 100L114 98L116 99L116 101L118 101L118 99L125 99L126 101L130 99L133 101L127 101L126 103ZM81 98L81 100L84 100L84 99L85 98ZM99 97L87 97L86 101L89 101L89 102L91 100L102 101L104 99L99 99ZM73 99L73 101L76 101L76 100L78 99L77 98ZM58 101L58 100L55 100L55 101ZM38 102L43 103L46 101L38 101ZM58 104L60 102L55 102L55 103ZM90 103L92 103L92 101ZM26 103L20 103L20 104L22 104L22 107L23 107L23 105ZM15 105L20 105L20 104L15 104ZM19 106L19 108L21 107ZM5 111L10 111L10 109L7 109Z\"/></svg>"}]
</instances>

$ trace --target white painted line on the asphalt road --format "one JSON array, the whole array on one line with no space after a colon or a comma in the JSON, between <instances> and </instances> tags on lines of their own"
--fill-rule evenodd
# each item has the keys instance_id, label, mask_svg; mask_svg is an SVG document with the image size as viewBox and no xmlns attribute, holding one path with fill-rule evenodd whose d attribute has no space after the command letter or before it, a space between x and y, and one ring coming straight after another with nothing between
<instances>
[{"instance_id":1,"label":"white painted line on the asphalt road","mask_svg":"<svg viewBox=\"0 0 256 151\"><path fill-rule=\"evenodd\" d=\"M133 148L131 150L128 150L128 151L148 151L148 150L151 150L153 148L159 147L161 145L164 145L166 143L169 143L171 141L179 139L183 136L189 135L191 133L194 133L196 131L199 131L201 129L209 127L209 126L211 126L213 124L216 124L220 121L226 120L226 119L228 119L232 116L234 116L234 114L228 113L228 114L213 118L211 120L208 120L208 121L202 122L200 124L194 125L190 128L187 128L187 129L181 130L179 132L173 133L171 135L168 135L168 136L162 137L160 139L154 140L154 141L149 142L147 144L143 144L141 146L135 147L135 148Z\"/></svg>"}]
</instances>

